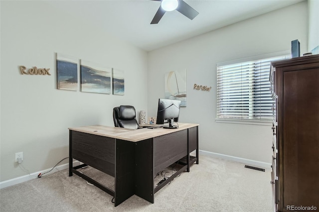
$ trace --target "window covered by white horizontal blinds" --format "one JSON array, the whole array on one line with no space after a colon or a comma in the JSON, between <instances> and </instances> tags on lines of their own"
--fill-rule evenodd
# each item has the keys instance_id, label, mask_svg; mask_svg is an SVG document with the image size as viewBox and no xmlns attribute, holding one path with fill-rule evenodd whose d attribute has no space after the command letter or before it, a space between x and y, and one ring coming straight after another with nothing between
<instances>
[{"instance_id":1,"label":"window covered by white horizontal blinds","mask_svg":"<svg viewBox=\"0 0 319 212\"><path fill-rule=\"evenodd\" d=\"M270 121L270 62L291 58L280 52L217 64L216 120Z\"/></svg>"}]
</instances>

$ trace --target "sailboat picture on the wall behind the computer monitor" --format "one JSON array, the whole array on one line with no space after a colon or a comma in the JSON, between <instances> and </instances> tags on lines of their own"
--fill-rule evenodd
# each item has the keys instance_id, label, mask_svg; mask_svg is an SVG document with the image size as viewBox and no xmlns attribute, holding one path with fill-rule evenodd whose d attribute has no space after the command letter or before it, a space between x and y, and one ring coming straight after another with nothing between
<instances>
[{"instance_id":1,"label":"sailboat picture on the wall behind the computer monitor","mask_svg":"<svg viewBox=\"0 0 319 212\"><path fill-rule=\"evenodd\" d=\"M186 106L186 70L165 74L165 99L180 100L180 106Z\"/></svg>"}]
</instances>

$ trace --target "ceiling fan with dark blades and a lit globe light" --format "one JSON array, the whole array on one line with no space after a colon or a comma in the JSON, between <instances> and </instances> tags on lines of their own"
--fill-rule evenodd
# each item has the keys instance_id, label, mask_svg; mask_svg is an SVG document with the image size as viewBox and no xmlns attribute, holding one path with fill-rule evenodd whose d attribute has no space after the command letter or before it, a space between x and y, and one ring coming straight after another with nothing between
<instances>
[{"instance_id":1,"label":"ceiling fan with dark blades and a lit globe light","mask_svg":"<svg viewBox=\"0 0 319 212\"><path fill-rule=\"evenodd\" d=\"M177 10L189 19L193 19L198 15L198 12L189 6L183 0L156 0L160 2L160 8L156 12L151 24L157 24L160 22L160 18L165 14L166 11Z\"/></svg>"}]
</instances>

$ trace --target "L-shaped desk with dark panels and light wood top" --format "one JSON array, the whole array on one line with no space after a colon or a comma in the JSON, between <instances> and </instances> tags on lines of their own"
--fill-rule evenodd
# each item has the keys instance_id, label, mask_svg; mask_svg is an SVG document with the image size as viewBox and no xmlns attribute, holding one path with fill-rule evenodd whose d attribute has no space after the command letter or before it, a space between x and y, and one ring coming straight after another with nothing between
<instances>
[{"instance_id":1,"label":"L-shaped desk with dark panels and light wood top","mask_svg":"<svg viewBox=\"0 0 319 212\"><path fill-rule=\"evenodd\" d=\"M198 164L198 124L178 125L177 129L69 128L69 176L74 173L112 195L115 206L134 194L154 203L156 192L181 172L189 172L191 164ZM196 155L190 156L194 150ZM73 159L84 164L73 167ZM155 187L157 173L175 162L182 168ZM115 189L77 171L87 165L114 177Z\"/></svg>"}]
</instances>

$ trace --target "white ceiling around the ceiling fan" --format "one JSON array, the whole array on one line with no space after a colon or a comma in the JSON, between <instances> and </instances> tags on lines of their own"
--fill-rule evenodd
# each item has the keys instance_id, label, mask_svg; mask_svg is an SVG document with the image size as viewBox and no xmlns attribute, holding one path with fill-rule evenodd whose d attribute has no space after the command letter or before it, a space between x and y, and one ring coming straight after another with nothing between
<instances>
[{"instance_id":1,"label":"white ceiling around the ceiling fan","mask_svg":"<svg viewBox=\"0 0 319 212\"><path fill-rule=\"evenodd\" d=\"M121 40L151 51L214 29L303 0L184 0L199 12L190 20L178 11L166 12L150 24L160 7L155 0L46 1L96 24Z\"/></svg>"}]
</instances>

